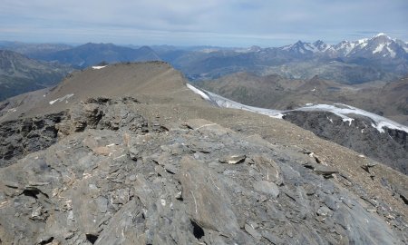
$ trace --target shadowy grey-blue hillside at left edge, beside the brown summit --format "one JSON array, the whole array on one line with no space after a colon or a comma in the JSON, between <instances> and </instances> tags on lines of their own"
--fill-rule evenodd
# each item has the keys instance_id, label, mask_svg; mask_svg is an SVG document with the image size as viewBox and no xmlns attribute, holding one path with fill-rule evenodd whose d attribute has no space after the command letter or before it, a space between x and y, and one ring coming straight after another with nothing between
<instances>
[{"instance_id":1,"label":"shadowy grey-blue hillside at left edge, beside the brown summit","mask_svg":"<svg viewBox=\"0 0 408 245\"><path fill-rule=\"evenodd\" d=\"M71 71L68 65L40 62L0 50L0 101L59 83Z\"/></svg>"}]
</instances>

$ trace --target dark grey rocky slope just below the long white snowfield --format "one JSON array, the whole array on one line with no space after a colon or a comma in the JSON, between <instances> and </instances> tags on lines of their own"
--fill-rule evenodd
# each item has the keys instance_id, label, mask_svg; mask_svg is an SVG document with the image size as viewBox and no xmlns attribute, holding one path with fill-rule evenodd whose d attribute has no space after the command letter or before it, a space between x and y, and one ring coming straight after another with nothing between
<instances>
[{"instance_id":1,"label":"dark grey rocky slope just below the long white snowfield","mask_svg":"<svg viewBox=\"0 0 408 245\"><path fill-rule=\"evenodd\" d=\"M283 119L408 174L408 132L389 128L379 132L364 116L348 122L335 113L295 110Z\"/></svg>"}]
</instances>

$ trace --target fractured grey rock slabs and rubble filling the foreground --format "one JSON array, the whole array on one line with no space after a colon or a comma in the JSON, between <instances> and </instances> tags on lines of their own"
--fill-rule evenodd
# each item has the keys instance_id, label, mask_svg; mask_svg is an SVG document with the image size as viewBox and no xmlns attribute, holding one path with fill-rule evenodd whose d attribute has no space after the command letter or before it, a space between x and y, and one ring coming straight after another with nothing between
<instances>
[{"instance_id":1,"label":"fractured grey rock slabs and rubble filling the foreground","mask_svg":"<svg viewBox=\"0 0 408 245\"><path fill-rule=\"evenodd\" d=\"M112 106L118 112L120 103ZM403 244L406 239L403 227L393 229L358 196L298 162L303 152L279 150L260 137L205 120L165 131L141 115L132 115L131 125L138 127L115 117L119 127L94 125L83 132L75 132L77 119L63 122L71 130L63 131L59 142L0 170L2 242ZM219 162L237 152L246 156L244 162Z\"/></svg>"}]
</instances>

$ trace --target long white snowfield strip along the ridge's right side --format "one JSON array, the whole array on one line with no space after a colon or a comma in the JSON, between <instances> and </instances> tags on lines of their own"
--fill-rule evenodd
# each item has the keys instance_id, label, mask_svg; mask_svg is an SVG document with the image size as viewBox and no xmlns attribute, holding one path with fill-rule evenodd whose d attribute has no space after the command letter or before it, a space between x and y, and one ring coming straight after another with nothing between
<instances>
[{"instance_id":1,"label":"long white snowfield strip along the ridge's right side","mask_svg":"<svg viewBox=\"0 0 408 245\"><path fill-rule=\"evenodd\" d=\"M219 107L223 107L223 108L240 109L240 110L244 110L244 111L248 111L252 113L264 114L270 117L280 118L280 119L282 119L282 117L285 114L290 113L290 112L295 112L295 111L330 112L330 113L335 113L336 115L341 117L343 119L343 122L348 122L349 126L351 126L352 122L355 120L353 118L353 114L355 114L355 115L362 115L362 116L365 116L371 119L372 120L371 126L374 127L376 130L378 130L379 132L385 132L384 127L389 128L389 129L395 129L395 130L408 132L408 127L404 126L403 124L400 124L398 122L393 122L392 120L387 119L383 116L380 116L374 113L369 113L362 109L358 109L356 107L353 107L347 104L343 104L343 103L335 103L335 104L306 103L306 106L301 107L301 108L296 108L295 110L279 111L279 110L266 109L266 108L260 108L260 107L255 107L255 106L249 106L249 105L245 105L242 103L237 103L227 98L224 98L222 96L219 96L216 93L210 93L208 91L199 90L198 88L190 85L189 83L187 84L187 87L194 93L199 94L206 101L209 101L210 103L216 104ZM333 122L333 120L330 119L330 122Z\"/></svg>"}]
</instances>

